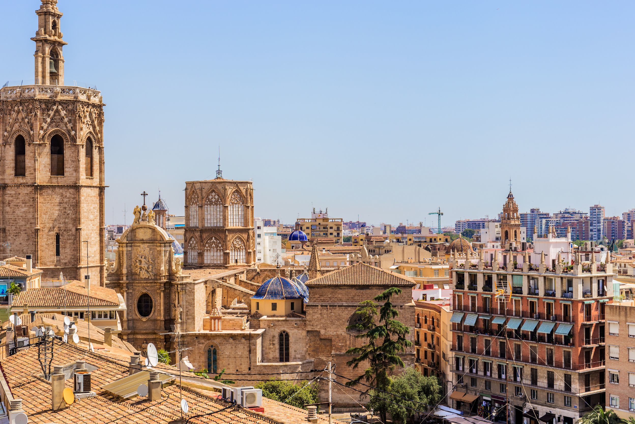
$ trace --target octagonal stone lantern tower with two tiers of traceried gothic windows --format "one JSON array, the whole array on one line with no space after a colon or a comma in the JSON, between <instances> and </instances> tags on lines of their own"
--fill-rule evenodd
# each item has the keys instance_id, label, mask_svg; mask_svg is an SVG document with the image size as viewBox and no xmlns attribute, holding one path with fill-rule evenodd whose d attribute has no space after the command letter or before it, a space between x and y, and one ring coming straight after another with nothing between
<instances>
[{"instance_id":1,"label":"octagonal stone lantern tower with two tiers of traceried gothic windows","mask_svg":"<svg viewBox=\"0 0 635 424\"><path fill-rule=\"evenodd\" d=\"M254 264L253 218L251 181L185 182L185 265Z\"/></svg>"}]
</instances>

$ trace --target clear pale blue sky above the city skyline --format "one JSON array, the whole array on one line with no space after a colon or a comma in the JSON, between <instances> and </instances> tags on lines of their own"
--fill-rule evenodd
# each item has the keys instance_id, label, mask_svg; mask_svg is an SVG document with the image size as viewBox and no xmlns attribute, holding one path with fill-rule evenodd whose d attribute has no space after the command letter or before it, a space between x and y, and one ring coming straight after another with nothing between
<instances>
[{"instance_id":1,"label":"clear pale blue sky above the city skyline","mask_svg":"<svg viewBox=\"0 0 635 424\"><path fill-rule=\"evenodd\" d=\"M3 1L1 83L33 78L39 3ZM67 84L107 104L107 223L159 188L182 214L219 144L286 222L493 216L509 177L523 211L635 207L632 1L58 6Z\"/></svg>"}]
</instances>

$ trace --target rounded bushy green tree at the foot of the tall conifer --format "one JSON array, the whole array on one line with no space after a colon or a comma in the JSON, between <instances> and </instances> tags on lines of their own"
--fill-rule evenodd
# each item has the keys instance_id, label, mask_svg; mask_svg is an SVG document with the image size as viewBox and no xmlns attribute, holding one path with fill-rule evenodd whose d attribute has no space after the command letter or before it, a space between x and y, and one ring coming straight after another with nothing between
<instances>
[{"instance_id":1,"label":"rounded bushy green tree at the foot of the tall conifer","mask_svg":"<svg viewBox=\"0 0 635 424\"><path fill-rule=\"evenodd\" d=\"M408 368L391 378L388 392L371 390L370 394L373 397L369 400L368 406L373 411L385 409L391 414L392 421L400 424L405 424L408 418L413 416L412 409L424 411L425 405L434 405L441 400L441 386L438 378L424 377L413 368Z\"/></svg>"}]
</instances>

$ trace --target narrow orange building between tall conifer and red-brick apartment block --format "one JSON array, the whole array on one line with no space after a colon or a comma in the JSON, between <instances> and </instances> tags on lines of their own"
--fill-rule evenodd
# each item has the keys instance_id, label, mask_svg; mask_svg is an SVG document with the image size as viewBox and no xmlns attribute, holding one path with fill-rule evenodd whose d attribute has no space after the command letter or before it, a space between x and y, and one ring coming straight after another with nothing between
<instances>
[{"instance_id":1,"label":"narrow orange building between tall conifer and red-brick apartment block","mask_svg":"<svg viewBox=\"0 0 635 424\"><path fill-rule=\"evenodd\" d=\"M445 400L452 392L451 316L448 301L415 301L415 367L424 376L438 376Z\"/></svg>"}]
</instances>

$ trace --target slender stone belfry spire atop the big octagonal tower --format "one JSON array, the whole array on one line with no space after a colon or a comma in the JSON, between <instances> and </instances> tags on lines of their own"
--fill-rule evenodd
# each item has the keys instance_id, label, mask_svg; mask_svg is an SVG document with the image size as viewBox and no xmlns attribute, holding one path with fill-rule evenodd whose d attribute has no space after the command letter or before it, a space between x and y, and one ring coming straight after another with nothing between
<instances>
[{"instance_id":1,"label":"slender stone belfry spire atop the big octagonal tower","mask_svg":"<svg viewBox=\"0 0 635 424\"><path fill-rule=\"evenodd\" d=\"M35 83L38 85L64 85L64 56L62 48L68 44L62 41L60 20L62 13L57 9L57 0L41 0L37 14Z\"/></svg>"}]
</instances>

